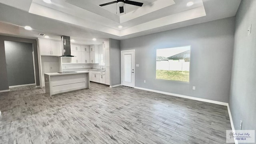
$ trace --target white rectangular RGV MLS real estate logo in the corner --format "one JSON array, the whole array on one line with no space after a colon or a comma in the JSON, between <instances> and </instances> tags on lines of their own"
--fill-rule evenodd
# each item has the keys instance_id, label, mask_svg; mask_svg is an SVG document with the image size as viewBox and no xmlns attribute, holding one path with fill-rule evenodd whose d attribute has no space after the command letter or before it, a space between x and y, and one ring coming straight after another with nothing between
<instances>
[{"instance_id":1,"label":"white rectangular RGV MLS real estate logo in the corner","mask_svg":"<svg viewBox=\"0 0 256 144\"><path fill-rule=\"evenodd\" d=\"M226 143L255 143L255 130L226 130Z\"/></svg>"}]
</instances>

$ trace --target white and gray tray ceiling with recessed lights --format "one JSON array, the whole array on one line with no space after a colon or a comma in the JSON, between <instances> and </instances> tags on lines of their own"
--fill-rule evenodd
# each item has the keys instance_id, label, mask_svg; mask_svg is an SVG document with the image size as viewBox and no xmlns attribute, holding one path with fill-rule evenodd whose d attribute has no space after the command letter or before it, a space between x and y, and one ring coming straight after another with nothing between
<instances>
[{"instance_id":1,"label":"white and gray tray ceiling with recessed lights","mask_svg":"<svg viewBox=\"0 0 256 144\"><path fill-rule=\"evenodd\" d=\"M79 44L100 44L235 16L241 0L134 0L143 6L125 4L125 14L116 14L116 4L99 6L112 1L0 0L0 34L38 38L43 33L57 40L66 35ZM194 5L186 6L190 1ZM27 25L33 30L24 30Z\"/></svg>"}]
</instances>

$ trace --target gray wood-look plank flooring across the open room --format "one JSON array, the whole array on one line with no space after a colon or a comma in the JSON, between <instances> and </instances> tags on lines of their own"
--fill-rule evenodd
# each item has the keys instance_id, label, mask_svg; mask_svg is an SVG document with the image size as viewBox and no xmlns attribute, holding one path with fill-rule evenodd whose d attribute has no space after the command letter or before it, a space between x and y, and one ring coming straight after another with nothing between
<instances>
[{"instance_id":1,"label":"gray wood-look plank flooring across the open room","mask_svg":"<svg viewBox=\"0 0 256 144\"><path fill-rule=\"evenodd\" d=\"M0 144L225 144L226 106L125 86L0 94Z\"/></svg>"}]
</instances>

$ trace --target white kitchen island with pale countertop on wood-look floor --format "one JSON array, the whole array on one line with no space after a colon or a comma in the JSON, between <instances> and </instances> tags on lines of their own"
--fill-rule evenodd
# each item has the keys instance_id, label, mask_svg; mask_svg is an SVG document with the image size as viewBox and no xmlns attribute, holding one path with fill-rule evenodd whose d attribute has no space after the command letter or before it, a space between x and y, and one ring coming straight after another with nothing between
<instances>
[{"instance_id":1,"label":"white kitchen island with pale countertop on wood-look floor","mask_svg":"<svg viewBox=\"0 0 256 144\"><path fill-rule=\"evenodd\" d=\"M62 92L90 88L88 71L44 74L45 93L49 96Z\"/></svg>"}]
</instances>

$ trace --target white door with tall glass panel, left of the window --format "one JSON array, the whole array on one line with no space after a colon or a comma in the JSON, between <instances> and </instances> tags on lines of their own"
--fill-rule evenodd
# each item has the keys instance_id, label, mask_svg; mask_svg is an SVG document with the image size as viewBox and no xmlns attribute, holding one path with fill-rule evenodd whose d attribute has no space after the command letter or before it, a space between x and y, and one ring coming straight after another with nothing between
<instances>
[{"instance_id":1,"label":"white door with tall glass panel, left of the window","mask_svg":"<svg viewBox=\"0 0 256 144\"><path fill-rule=\"evenodd\" d=\"M135 86L134 50L122 51L122 85Z\"/></svg>"}]
</instances>

